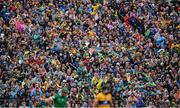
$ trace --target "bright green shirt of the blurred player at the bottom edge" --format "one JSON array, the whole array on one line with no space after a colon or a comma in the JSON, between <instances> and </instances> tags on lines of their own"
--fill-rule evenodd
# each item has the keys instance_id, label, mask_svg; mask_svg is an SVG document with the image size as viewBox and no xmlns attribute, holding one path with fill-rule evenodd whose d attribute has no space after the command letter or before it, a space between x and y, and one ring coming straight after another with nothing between
<instances>
[{"instance_id":1,"label":"bright green shirt of the blurred player at the bottom edge","mask_svg":"<svg viewBox=\"0 0 180 108\"><path fill-rule=\"evenodd\" d=\"M59 93L57 93L54 98L54 107L56 108L67 108L67 97L61 96Z\"/></svg>"}]
</instances>

